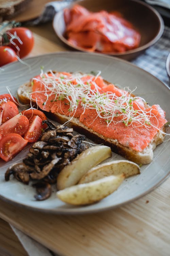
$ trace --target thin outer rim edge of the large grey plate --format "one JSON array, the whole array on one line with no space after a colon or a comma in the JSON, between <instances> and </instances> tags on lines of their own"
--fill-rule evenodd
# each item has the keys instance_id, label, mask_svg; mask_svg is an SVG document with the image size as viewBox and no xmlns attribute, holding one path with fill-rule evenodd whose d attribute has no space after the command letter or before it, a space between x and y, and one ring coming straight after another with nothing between
<instances>
[{"instance_id":1,"label":"thin outer rim edge of the large grey plate","mask_svg":"<svg viewBox=\"0 0 170 256\"><path fill-rule=\"evenodd\" d=\"M53 53L46 53L46 54L41 54L41 55L37 55L37 56L34 56L34 57L29 57L29 58L25 58L24 60L30 60L30 59L35 59L35 58L41 58L43 56L50 56L50 55L67 55L67 54L75 54L75 55L89 55L89 56L96 56L96 57L104 57L104 58L109 58L109 59L112 59L112 60L116 60L116 61L120 61L120 62L125 62L127 65L130 65L134 68L137 68L139 69L140 71L144 72L144 73L147 73L149 76L152 76L154 79L158 80L158 82L164 86L167 90L170 90L170 88L168 87L167 84L163 83L162 81L160 81L157 77L155 77L154 75L152 75L151 73L149 73L148 71L136 66L135 64L129 62L129 61L126 61L126 60L123 60L123 59L120 59L118 57L113 57L113 56L108 56L108 55L104 55L104 54L98 54L98 53L85 53L85 52L73 52L73 51L64 51L64 52L53 52ZM12 63L9 63L7 65L5 65L4 67L8 67L8 66L11 66L11 65L16 65L16 63L18 63L17 61L15 62L12 62ZM165 180L168 179L168 177L170 176L170 170L169 172L158 182L156 183L153 187L149 188L148 190L146 190L144 193L136 196L136 197L133 197L131 199L129 199L128 201L124 201L124 202L121 202L121 203L118 203L116 205L111 205L111 206L108 206L108 207L104 207L102 208L102 206L100 208L97 208L97 209L85 209L84 206L83 209L81 210L81 208L72 208L72 209L69 209L69 208L65 208L65 209L55 209L55 208L51 208L51 209L46 209L46 208L37 208L37 207L34 207L34 206L31 206L31 205L28 205L28 204L24 204L24 203L21 203L21 202L17 202L15 200L11 200L11 199L8 199L2 195L0 195L0 199L2 199L3 201L5 202L8 202L8 203L11 203L11 204L15 204L19 207L22 207L22 208L25 208L25 209L30 209L30 210L33 210L33 211L38 211L38 212L44 212L44 213L52 213L52 214L86 214L86 213L96 213L96 212L101 212L101 211L106 211L106 210L110 210L110 209L115 209L115 208L118 208L118 207L121 207L122 205L126 205L128 203L131 203L145 195L147 195L148 193L150 193L151 191L153 191L155 188L157 188L159 185L161 185Z\"/></svg>"}]
</instances>

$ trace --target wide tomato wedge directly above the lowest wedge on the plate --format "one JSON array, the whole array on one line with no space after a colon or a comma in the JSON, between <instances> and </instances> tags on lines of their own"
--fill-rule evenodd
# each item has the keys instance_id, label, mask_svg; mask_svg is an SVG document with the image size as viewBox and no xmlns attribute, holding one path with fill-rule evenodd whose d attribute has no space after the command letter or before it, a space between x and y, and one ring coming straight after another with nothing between
<instances>
[{"instance_id":1,"label":"wide tomato wedge directly above the lowest wedge on the plate","mask_svg":"<svg viewBox=\"0 0 170 256\"><path fill-rule=\"evenodd\" d=\"M27 132L28 128L28 118L19 113L0 126L0 134L4 136L8 133L18 133L22 136Z\"/></svg>"}]
</instances>

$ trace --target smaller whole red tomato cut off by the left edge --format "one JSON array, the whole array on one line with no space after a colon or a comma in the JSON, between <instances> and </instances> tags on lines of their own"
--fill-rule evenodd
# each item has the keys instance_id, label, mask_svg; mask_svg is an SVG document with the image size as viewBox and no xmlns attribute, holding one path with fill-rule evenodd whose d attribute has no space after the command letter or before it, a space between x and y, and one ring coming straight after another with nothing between
<instances>
[{"instance_id":1,"label":"smaller whole red tomato cut off by the left edge","mask_svg":"<svg viewBox=\"0 0 170 256\"><path fill-rule=\"evenodd\" d=\"M16 52L8 46L0 46L0 67L17 60Z\"/></svg>"}]
</instances>

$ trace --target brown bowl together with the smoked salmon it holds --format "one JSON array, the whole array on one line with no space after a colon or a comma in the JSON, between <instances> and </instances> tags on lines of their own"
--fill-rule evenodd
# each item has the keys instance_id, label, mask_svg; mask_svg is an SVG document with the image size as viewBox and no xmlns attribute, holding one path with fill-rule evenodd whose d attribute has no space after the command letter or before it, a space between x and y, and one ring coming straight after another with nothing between
<instances>
[{"instance_id":1,"label":"brown bowl together with the smoked salmon it holds","mask_svg":"<svg viewBox=\"0 0 170 256\"><path fill-rule=\"evenodd\" d=\"M53 28L73 49L131 60L157 42L164 22L138 0L83 0L57 13Z\"/></svg>"}]
</instances>

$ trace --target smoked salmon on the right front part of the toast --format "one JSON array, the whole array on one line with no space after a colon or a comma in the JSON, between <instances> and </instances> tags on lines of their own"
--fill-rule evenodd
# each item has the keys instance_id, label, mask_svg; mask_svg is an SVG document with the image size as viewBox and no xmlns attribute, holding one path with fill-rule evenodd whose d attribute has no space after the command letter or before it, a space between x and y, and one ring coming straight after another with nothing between
<instances>
[{"instance_id":1,"label":"smoked salmon on the right front part of the toast","mask_svg":"<svg viewBox=\"0 0 170 256\"><path fill-rule=\"evenodd\" d=\"M159 108L160 106L157 105L157 111ZM152 110L151 113L153 113ZM119 121L116 117L114 119ZM146 125L139 126L138 123L134 123L133 126L125 126L122 122L116 124L111 122L108 126L106 125L106 120L100 118L96 110L91 109L86 109L81 114L79 120L86 127L91 128L106 138L116 139L120 144L131 147L136 151L143 151L154 138L158 129L161 129L167 122L164 115L159 114L155 117L155 114L153 114L153 117L149 119L151 124L148 125L148 129Z\"/></svg>"}]
</instances>

